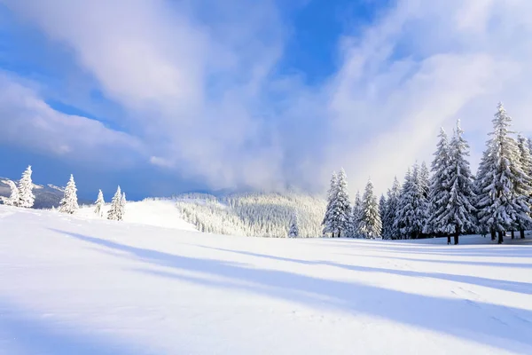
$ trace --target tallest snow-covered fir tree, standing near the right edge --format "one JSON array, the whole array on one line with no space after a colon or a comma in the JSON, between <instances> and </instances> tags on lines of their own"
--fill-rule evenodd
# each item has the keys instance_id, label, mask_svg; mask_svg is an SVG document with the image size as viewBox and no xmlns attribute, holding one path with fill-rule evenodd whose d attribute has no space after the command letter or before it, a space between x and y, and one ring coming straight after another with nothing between
<instances>
[{"instance_id":1,"label":"tallest snow-covered fir tree, standing near the right edge","mask_svg":"<svg viewBox=\"0 0 532 355\"><path fill-rule=\"evenodd\" d=\"M530 182L521 169L520 153L515 140L510 137L512 118L502 103L497 106L493 132L482 156L476 179L477 200L481 225L498 233L502 243L506 231L523 230L530 224L528 196Z\"/></svg>"}]
</instances>

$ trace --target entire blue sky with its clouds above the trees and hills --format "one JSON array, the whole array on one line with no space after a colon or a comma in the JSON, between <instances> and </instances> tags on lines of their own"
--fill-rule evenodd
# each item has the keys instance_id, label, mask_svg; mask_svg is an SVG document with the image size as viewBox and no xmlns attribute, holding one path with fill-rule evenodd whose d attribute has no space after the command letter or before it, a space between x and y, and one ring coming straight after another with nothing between
<instances>
[{"instance_id":1,"label":"entire blue sky with its clouds above the trees and hills","mask_svg":"<svg viewBox=\"0 0 532 355\"><path fill-rule=\"evenodd\" d=\"M430 3L430 4L429 4ZM0 176L82 196L378 191L498 100L532 132L527 0L0 0Z\"/></svg>"}]
</instances>

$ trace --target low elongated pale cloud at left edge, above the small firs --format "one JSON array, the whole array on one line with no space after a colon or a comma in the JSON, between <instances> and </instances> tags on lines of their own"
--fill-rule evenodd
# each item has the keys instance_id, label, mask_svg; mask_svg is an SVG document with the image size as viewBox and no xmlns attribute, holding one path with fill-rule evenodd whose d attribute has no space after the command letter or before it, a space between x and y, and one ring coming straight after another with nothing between
<instances>
[{"instance_id":1,"label":"low elongated pale cloud at left edge, above the small firs","mask_svg":"<svg viewBox=\"0 0 532 355\"><path fill-rule=\"evenodd\" d=\"M42 154L120 168L142 156L143 145L86 117L62 114L30 85L0 72L0 141Z\"/></svg>"}]
</instances>

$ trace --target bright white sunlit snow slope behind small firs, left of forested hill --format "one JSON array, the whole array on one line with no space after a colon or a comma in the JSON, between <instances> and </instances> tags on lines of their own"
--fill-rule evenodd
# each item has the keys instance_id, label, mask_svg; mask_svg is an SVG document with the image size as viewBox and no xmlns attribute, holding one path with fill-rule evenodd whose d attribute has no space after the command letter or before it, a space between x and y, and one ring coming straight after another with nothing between
<instances>
[{"instance_id":1,"label":"bright white sunlit snow slope behind small firs, left of forested hill","mask_svg":"<svg viewBox=\"0 0 532 355\"><path fill-rule=\"evenodd\" d=\"M111 199L109 199L110 202ZM107 217L107 211L111 207L106 203L104 207L104 217ZM78 217L88 219L102 219L94 213L96 206L82 206L76 212ZM163 228L181 229L184 231L197 231L196 227L181 217L179 209L176 208L176 201L170 200L146 200L146 201L128 201L126 203L126 213L123 222L134 223L138 225L153 225Z\"/></svg>"}]
</instances>

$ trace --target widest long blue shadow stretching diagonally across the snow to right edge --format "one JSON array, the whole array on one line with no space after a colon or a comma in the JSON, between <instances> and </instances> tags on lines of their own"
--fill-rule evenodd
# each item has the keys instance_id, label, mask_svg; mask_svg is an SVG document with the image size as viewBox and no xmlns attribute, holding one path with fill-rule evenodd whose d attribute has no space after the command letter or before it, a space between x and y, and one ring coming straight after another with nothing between
<instances>
[{"instance_id":1,"label":"widest long blue shadow stretching diagonally across the snow to right edge","mask_svg":"<svg viewBox=\"0 0 532 355\"><path fill-rule=\"evenodd\" d=\"M528 310L469 299L423 296L292 272L250 268L215 259L178 256L79 233L54 231L79 241L127 253L120 257L172 268L174 272L159 273L159 276L168 279L183 280L184 276L179 275L178 271L200 272L205 277L187 277L187 281L209 287L237 288L317 308L375 316L507 351L532 353L532 339L529 336L532 330L532 312ZM376 272L363 266L343 267L362 272ZM394 272L399 274L399 271ZM222 277L228 281L213 283L208 279L209 276ZM414 273L411 276L415 276Z\"/></svg>"}]
</instances>

